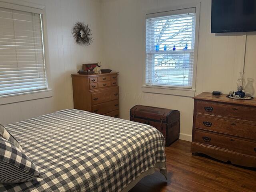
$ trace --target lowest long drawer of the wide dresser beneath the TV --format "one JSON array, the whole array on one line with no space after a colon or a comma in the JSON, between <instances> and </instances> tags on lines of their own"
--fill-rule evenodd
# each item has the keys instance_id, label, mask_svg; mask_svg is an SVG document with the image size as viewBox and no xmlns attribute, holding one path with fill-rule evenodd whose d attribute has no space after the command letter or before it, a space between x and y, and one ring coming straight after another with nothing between
<instances>
[{"instance_id":1,"label":"lowest long drawer of the wide dresser beneath the TV","mask_svg":"<svg viewBox=\"0 0 256 192\"><path fill-rule=\"evenodd\" d=\"M256 156L256 142L250 142L210 132L195 131L194 142L212 145L243 154Z\"/></svg>"}]
</instances>

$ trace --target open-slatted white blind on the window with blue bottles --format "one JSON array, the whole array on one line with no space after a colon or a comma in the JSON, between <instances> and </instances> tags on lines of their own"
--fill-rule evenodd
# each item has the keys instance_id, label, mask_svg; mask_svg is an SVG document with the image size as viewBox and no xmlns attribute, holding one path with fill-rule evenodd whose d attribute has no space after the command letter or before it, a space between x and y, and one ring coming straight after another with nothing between
<instances>
[{"instance_id":1,"label":"open-slatted white blind on the window with blue bottles","mask_svg":"<svg viewBox=\"0 0 256 192\"><path fill-rule=\"evenodd\" d=\"M146 19L146 85L192 88L195 10L167 14Z\"/></svg>"}]
</instances>

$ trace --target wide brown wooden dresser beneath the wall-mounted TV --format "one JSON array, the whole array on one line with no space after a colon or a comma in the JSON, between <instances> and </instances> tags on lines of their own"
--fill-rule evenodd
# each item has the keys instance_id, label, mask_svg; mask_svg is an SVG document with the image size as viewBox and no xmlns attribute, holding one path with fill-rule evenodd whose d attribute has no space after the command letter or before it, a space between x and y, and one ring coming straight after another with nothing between
<instances>
[{"instance_id":1,"label":"wide brown wooden dresser beneath the wall-mounted TV","mask_svg":"<svg viewBox=\"0 0 256 192\"><path fill-rule=\"evenodd\" d=\"M256 99L203 92L194 97L192 154L256 167Z\"/></svg>"}]
</instances>

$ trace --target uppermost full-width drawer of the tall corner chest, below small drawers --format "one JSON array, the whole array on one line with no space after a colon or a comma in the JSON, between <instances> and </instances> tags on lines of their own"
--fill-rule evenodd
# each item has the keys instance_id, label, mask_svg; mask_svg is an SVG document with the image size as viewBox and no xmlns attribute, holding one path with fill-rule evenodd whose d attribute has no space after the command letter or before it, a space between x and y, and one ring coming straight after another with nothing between
<instances>
[{"instance_id":1,"label":"uppermost full-width drawer of the tall corner chest, below small drawers","mask_svg":"<svg viewBox=\"0 0 256 192\"><path fill-rule=\"evenodd\" d=\"M96 91L92 93L92 105L116 100L119 98L119 87L108 88L106 90Z\"/></svg>"}]
</instances>

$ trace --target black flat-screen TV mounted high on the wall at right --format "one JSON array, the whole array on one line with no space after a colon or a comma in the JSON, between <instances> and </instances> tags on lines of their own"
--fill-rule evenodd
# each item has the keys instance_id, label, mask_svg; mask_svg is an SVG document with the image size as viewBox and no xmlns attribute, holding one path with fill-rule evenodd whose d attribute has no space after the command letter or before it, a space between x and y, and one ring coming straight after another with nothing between
<instances>
[{"instance_id":1,"label":"black flat-screen TV mounted high on the wall at right","mask_svg":"<svg viewBox=\"0 0 256 192\"><path fill-rule=\"evenodd\" d=\"M256 0L212 0L212 33L256 31Z\"/></svg>"}]
</instances>

